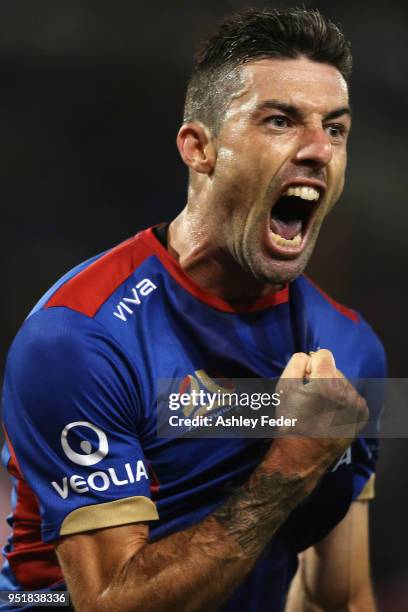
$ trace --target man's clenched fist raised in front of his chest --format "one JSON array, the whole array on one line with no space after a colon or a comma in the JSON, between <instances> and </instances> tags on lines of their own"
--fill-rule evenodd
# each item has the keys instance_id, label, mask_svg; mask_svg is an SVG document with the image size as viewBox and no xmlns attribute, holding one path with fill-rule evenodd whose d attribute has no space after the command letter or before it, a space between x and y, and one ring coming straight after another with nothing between
<instances>
[{"instance_id":1,"label":"man's clenched fist raised in front of his chest","mask_svg":"<svg viewBox=\"0 0 408 612\"><path fill-rule=\"evenodd\" d=\"M366 401L336 368L333 355L321 349L296 353L277 385L281 404L277 416L297 419L282 429L268 455L282 452L283 468L299 475L324 473L356 438L368 419Z\"/></svg>"}]
</instances>

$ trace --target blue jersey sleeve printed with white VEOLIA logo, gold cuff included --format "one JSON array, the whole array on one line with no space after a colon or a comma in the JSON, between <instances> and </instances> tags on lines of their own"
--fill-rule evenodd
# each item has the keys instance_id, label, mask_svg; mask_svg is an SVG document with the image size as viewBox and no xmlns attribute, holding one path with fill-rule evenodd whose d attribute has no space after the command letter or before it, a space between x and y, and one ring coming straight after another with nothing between
<instances>
[{"instance_id":1,"label":"blue jersey sleeve printed with white VEOLIA logo, gold cuff included","mask_svg":"<svg viewBox=\"0 0 408 612\"><path fill-rule=\"evenodd\" d=\"M158 518L140 394L134 364L95 320L58 307L23 325L8 355L3 419L44 541Z\"/></svg>"}]
</instances>

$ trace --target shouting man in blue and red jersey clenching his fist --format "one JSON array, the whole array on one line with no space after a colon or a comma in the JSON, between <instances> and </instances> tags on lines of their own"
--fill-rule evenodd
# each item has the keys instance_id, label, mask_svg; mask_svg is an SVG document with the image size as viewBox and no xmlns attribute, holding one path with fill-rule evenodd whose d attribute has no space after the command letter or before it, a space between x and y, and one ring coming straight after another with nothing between
<instances>
[{"instance_id":1,"label":"shouting man in blue and red jersey clenching his fist","mask_svg":"<svg viewBox=\"0 0 408 612\"><path fill-rule=\"evenodd\" d=\"M10 350L0 588L67 587L79 611L375 609L372 440L156 434L160 378L280 376L299 418L367 419L345 378L383 377L381 344L302 276L343 189L350 68L317 11L246 11L202 47L185 209L68 273Z\"/></svg>"}]
</instances>

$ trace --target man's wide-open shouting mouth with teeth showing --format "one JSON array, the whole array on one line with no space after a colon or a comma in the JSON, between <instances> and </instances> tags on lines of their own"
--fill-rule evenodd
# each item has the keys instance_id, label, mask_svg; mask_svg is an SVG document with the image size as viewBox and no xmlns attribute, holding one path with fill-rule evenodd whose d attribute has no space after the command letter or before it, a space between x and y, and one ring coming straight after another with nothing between
<instances>
[{"instance_id":1,"label":"man's wide-open shouting mouth with teeth showing","mask_svg":"<svg viewBox=\"0 0 408 612\"><path fill-rule=\"evenodd\" d=\"M270 216L271 238L282 251L300 251L321 193L305 185L288 187L274 204Z\"/></svg>"}]
</instances>

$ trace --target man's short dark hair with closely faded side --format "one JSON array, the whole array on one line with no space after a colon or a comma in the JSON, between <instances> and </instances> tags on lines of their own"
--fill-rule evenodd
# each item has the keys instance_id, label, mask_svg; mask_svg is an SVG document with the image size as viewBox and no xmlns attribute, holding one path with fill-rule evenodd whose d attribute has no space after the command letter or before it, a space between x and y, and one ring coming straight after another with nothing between
<instances>
[{"instance_id":1,"label":"man's short dark hair with closely faded side","mask_svg":"<svg viewBox=\"0 0 408 612\"><path fill-rule=\"evenodd\" d=\"M217 133L230 96L241 84L239 66L300 55L335 66L348 81L351 45L317 9L246 9L233 14L197 50L184 121L201 121Z\"/></svg>"}]
</instances>

